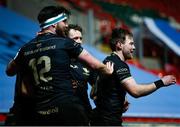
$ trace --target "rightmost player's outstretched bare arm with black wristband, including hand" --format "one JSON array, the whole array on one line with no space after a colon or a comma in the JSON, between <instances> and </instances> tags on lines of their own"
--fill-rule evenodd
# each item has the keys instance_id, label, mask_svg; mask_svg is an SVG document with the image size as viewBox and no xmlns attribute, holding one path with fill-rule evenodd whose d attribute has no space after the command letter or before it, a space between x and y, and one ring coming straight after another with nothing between
<instances>
[{"instance_id":1,"label":"rightmost player's outstretched bare arm with black wristband, including hand","mask_svg":"<svg viewBox=\"0 0 180 127\"><path fill-rule=\"evenodd\" d=\"M160 87L165 87L176 83L176 78L172 75L162 77L160 80L150 84L137 84L133 77L121 81L124 89L133 97L146 96L156 91Z\"/></svg>"}]
</instances>

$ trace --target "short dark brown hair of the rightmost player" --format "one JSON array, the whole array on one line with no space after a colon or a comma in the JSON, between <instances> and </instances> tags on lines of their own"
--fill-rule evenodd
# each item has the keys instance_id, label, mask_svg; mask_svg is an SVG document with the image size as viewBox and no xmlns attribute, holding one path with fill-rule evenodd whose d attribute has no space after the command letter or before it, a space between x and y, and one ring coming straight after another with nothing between
<instances>
[{"instance_id":1,"label":"short dark brown hair of the rightmost player","mask_svg":"<svg viewBox=\"0 0 180 127\"><path fill-rule=\"evenodd\" d=\"M133 34L127 29L114 28L112 30L111 39L110 39L110 47L112 51L116 50L117 42L124 43L126 39L126 35L133 37Z\"/></svg>"}]
</instances>

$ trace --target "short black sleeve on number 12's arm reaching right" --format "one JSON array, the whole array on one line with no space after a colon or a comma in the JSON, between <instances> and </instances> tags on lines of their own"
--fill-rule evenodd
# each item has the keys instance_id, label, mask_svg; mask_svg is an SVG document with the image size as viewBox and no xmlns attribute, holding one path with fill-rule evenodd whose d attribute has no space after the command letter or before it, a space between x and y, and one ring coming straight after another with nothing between
<instances>
[{"instance_id":1,"label":"short black sleeve on number 12's arm reaching right","mask_svg":"<svg viewBox=\"0 0 180 127\"><path fill-rule=\"evenodd\" d=\"M72 39L67 39L67 42L65 43L65 48L72 58L77 58L79 54L83 51L83 47L81 46L81 44L76 43Z\"/></svg>"}]
</instances>

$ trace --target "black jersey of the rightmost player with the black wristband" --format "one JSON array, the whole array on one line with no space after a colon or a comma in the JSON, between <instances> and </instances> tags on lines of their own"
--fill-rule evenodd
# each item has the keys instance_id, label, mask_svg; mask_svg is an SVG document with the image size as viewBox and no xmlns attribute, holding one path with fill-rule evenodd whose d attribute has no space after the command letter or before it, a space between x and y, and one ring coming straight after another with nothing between
<instances>
[{"instance_id":1,"label":"black jersey of the rightmost player with the black wristband","mask_svg":"<svg viewBox=\"0 0 180 127\"><path fill-rule=\"evenodd\" d=\"M106 57L104 63L114 63L114 72L111 76L100 75L97 81L96 105L99 110L107 113L117 113L121 116L126 91L122 88L121 81L131 76L128 65L116 54Z\"/></svg>"}]
</instances>

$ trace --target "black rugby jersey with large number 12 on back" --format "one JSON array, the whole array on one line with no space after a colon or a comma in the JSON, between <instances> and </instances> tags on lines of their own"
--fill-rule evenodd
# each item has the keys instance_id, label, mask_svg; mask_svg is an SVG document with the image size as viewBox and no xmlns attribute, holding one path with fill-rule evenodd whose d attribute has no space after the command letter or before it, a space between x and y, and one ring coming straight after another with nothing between
<instances>
[{"instance_id":1,"label":"black rugby jersey with large number 12 on back","mask_svg":"<svg viewBox=\"0 0 180 127\"><path fill-rule=\"evenodd\" d=\"M15 61L31 78L37 110L72 99L70 59L82 50L73 40L51 33L37 36L20 49Z\"/></svg>"}]
</instances>

